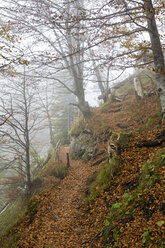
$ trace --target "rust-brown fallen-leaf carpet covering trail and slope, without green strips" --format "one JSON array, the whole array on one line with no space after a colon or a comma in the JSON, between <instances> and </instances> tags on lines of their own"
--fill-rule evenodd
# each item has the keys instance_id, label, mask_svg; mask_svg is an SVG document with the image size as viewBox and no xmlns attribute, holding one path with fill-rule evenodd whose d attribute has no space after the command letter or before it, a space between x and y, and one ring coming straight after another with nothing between
<instances>
[{"instance_id":1,"label":"rust-brown fallen-leaf carpet covering trail and slope, without green strips","mask_svg":"<svg viewBox=\"0 0 165 248\"><path fill-rule=\"evenodd\" d=\"M107 121L106 128L107 125L112 129L119 129L119 126L121 128L121 125L123 125L123 130L144 128L143 131L133 132L128 147L122 151L120 173L115 176L109 190L99 192L99 197L87 205L84 201L88 190L87 180L90 175L98 170L99 166L70 160L68 175L57 186L52 185L45 188L44 192L34 196L33 205L36 209L15 227L14 232L18 241L16 246L13 247L165 247L156 245L156 242L162 242L162 240L159 240L160 236L165 240L165 165L159 170L162 181L153 185L152 192L144 190L144 192L139 193L139 197L143 196L148 199L147 203L142 202L142 208L139 207L140 205L137 206L133 218L128 215L126 219L115 223L116 226L113 233L111 232L110 238L116 239L117 242L112 242L113 245L110 246L102 242L102 228L105 226L110 208L114 203L120 203L123 195L128 190L130 192L136 190L142 173L142 164L152 158L158 150L165 147L165 142L153 147L137 147L136 145L140 140L155 140L164 131L164 127L153 128L160 120L157 114L155 115L156 111L160 110L160 105L156 98L154 99L144 99L140 104L134 103L134 105L121 106L121 104L116 103L113 106L111 105L111 108L105 106L104 111L95 110L96 114L93 118L96 119L93 119L93 123L96 126L97 123L100 123L101 117L101 121L103 119ZM136 113L135 107L137 108ZM120 111L118 111L118 108L120 108ZM148 116L155 116L155 118L152 120ZM152 126L148 128L150 124ZM92 128L94 127L92 121L89 123L90 125ZM95 128L100 129L100 124ZM68 147L60 149L59 160L61 162L66 163L66 153L68 151ZM149 192L152 193L152 197L149 196ZM151 237L149 231L152 234ZM118 235L119 232L120 236ZM150 239L155 241L153 245L150 243Z\"/></svg>"}]
</instances>

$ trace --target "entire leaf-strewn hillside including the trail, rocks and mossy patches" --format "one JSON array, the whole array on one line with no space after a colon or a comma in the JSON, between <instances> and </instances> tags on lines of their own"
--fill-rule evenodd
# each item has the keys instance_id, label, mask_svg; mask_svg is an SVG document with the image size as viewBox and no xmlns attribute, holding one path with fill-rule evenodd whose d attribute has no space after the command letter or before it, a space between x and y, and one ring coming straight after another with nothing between
<instances>
[{"instance_id":1,"label":"entire leaf-strewn hillside including the trail, rocks and mossy patches","mask_svg":"<svg viewBox=\"0 0 165 248\"><path fill-rule=\"evenodd\" d=\"M131 92L72 128L67 176L47 178L3 248L165 247L165 126L158 97Z\"/></svg>"}]
</instances>

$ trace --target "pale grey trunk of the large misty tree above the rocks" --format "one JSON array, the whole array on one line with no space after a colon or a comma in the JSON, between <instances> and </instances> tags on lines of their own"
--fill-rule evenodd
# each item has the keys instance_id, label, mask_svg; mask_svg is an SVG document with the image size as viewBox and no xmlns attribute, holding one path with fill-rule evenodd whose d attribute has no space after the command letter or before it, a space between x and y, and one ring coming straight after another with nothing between
<instances>
[{"instance_id":1,"label":"pale grey trunk of the large misty tree above the rocks","mask_svg":"<svg viewBox=\"0 0 165 248\"><path fill-rule=\"evenodd\" d=\"M82 23L79 21L81 9L83 8L83 0L69 1L67 0L67 13L75 16L75 25L72 29L69 27L69 20L66 22L66 38L68 51L70 56L65 60L68 70L72 76L74 83L74 94L78 98L79 107L85 119L91 116L91 111L88 103L85 101L84 95L84 37L82 37ZM76 36L75 36L76 34Z\"/></svg>"}]
</instances>

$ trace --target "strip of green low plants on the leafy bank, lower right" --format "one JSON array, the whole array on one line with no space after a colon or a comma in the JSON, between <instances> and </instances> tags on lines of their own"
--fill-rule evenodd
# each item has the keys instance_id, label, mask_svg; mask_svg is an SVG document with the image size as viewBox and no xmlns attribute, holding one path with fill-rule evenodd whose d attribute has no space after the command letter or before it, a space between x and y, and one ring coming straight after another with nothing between
<instances>
[{"instance_id":1,"label":"strip of green low plants on the leafy bank, lower right","mask_svg":"<svg viewBox=\"0 0 165 248\"><path fill-rule=\"evenodd\" d=\"M154 195L157 184L163 182L160 170L164 165L165 149L158 151L152 159L149 159L142 165L137 188L132 191L127 190L123 194L121 201L115 202L111 206L103 233L103 242L108 245L107 247L121 247L120 238L124 235L125 225L136 218L137 211L142 211L145 220L149 221L152 220L152 214L158 208L161 208L161 204L165 203L160 202L158 206L158 203L155 203ZM142 246L151 247L155 245L154 247L165 247L162 229L162 226L165 225L165 220L160 217L160 220L154 223L154 225L156 226L156 232L152 232L150 226L148 226L141 233Z\"/></svg>"}]
</instances>

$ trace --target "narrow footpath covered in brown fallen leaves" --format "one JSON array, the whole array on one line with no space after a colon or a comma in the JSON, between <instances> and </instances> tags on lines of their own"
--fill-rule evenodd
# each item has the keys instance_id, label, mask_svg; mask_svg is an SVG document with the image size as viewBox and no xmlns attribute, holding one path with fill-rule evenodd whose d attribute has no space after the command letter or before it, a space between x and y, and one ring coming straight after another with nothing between
<instances>
[{"instance_id":1,"label":"narrow footpath covered in brown fallen leaves","mask_svg":"<svg viewBox=\"0 0 165 248\"><path fill-rule=\"evenodd\" d=\"M19 248L81 247L79 208L83 204L86 180L97 167L72 160L70 164L68 176L59 186L39 196L38 212L31 224L24 222Z\"/></svg>"}]
</instances>

